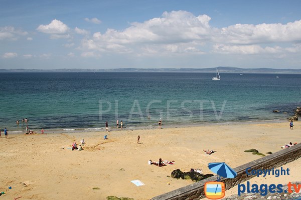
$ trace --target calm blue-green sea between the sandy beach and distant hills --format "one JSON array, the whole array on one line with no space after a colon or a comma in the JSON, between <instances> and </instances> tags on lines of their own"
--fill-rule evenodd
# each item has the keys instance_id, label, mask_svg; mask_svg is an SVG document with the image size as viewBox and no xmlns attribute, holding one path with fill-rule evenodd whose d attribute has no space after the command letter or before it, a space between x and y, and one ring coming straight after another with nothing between
<instances>
[{"instance_id":1,"label":"calm blue-green sea between the sandy beach and distant hills","mask_svg":"<svg viewBox=\"0 0 301 200\"><path fill-rule=\"evenodd\" d=\"M0 129L104 131L281 121L301 105L301 74L3 72ZM274 109L279 112L273 112ZM28 122L22 119L28 118ZM16 120L20 123L17 124Z\"/></svg>"}]
</instances>

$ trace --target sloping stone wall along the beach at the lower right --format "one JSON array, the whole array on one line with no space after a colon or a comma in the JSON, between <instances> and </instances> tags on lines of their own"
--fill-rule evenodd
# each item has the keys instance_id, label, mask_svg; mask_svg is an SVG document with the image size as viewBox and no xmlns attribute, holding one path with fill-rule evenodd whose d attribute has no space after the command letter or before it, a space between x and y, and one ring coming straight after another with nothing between
<instances>
[{"instance_id":1,"label":"sloping stone wall along the beach at the lower right","mask_svg":"<svg viewBox=\"0 0 301 200\"><path fill-rule=\"evenodd\" d=\"M261 157L249 163L240 165L234 168L234 170L237 172L237 176L235 178L221 178L220 181L225 183L226 189L229 189L255 176L246 174L245 170L248 167L251 167L252 169L269 169L273 167L276 168L286 164L287 162L291 162L299 157L301 157L301 143L291 146L289 148L279 150L275 153ZM165 194L161 194L159 196L155 196L151 200L192 200L204 198L205 182L216 180L216 175L211 176L199 182L187 185L185 187L181 187L179 189L167 192Z\"/></svg>"}]
</instances>

